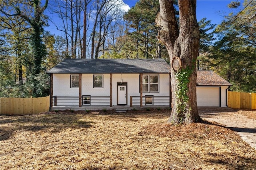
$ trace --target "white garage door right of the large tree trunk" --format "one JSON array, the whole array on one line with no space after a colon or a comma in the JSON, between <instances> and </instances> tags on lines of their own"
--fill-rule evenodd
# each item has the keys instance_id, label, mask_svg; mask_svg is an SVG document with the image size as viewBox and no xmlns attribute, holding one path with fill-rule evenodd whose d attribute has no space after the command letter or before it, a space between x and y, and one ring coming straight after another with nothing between
<instances>
[{"instance_id":1,"label":"white garage door right of the large tree trunk","mask_svg":"<svg viewBox=\"0 0 256 170\"><path fill-rule=\"evenodd\" d=\"M197 106L199 107L219 107L220 88L219 87L196 87Z\"/></svg>"}]
</instances>

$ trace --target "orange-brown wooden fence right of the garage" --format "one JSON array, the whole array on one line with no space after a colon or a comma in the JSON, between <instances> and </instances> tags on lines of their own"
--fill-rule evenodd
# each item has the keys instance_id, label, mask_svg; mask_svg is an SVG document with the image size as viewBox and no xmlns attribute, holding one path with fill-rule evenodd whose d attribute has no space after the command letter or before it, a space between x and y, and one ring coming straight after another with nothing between
<instances>
[{"instance_id":1,"label":"orange-brown wooden fence right of the garage","mask_svg":"<svg viewBox=\"0 0 256 170\"><path fill-rule=\"evenodd\" d=\"M256 109L256 93L228 91L228 107L234 109Z\"/></svg>"}]
</instances>

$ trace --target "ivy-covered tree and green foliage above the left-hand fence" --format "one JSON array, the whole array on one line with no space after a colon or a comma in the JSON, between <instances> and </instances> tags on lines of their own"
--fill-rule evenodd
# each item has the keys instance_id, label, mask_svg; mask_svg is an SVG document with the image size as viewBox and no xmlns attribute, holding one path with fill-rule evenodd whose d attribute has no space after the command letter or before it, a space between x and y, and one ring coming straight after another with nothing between
<instances>
[{"instance_id":1,"label":"ivy-covered tree and green foliage above the left-hand fence","mask_svg":"<svg viewBox=\"0 0 256 170\"><path fill-rule=\"evenodd\" d=\"M1 97L48 95L49 76L43 61L47 43L42 42L47 17L40 1L1 2ZM4 45L8 43L8 45ZM50 47L50 46L49 46ZM7 52L8 51L8 52Z\"/></svg>"}]
</instances>

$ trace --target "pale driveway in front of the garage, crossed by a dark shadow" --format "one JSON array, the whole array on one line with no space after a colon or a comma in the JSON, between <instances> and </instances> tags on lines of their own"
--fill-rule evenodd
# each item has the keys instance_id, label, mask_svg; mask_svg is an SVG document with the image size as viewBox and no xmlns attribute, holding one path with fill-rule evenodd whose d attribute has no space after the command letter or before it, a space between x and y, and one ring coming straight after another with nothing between
<instances>
[{"instance_id":1,"label":"pale driveway in front of the garage, crossed by a dark shadow","mask_svg":"<svg viewBox=\"0 0 256 170\"><path fill-rule=\"evenodd\" d=\"M235 131L256 150L256 111L221 107L199 107L200 117Z\"/></svg>"}]
</instances>

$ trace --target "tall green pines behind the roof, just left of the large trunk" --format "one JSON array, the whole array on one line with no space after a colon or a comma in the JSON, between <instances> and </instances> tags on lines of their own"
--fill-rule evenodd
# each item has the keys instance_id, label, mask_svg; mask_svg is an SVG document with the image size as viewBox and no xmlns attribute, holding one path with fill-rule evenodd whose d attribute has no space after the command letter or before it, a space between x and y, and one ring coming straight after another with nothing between
<instances>
[{"instance_id":1,"label":"tall green pines behind the roof, just left of the large trunk","mask_svg":"<svg viewBox=\"0 0 256 170\"><path fill-rule=\"evenodd\" d=\"M156 14L160 11L157 0L140 0L124 20L127 22L126 43L122 50L129 58L168 58L166 48L157 39Z\"/></svg>"}]
</instances>

